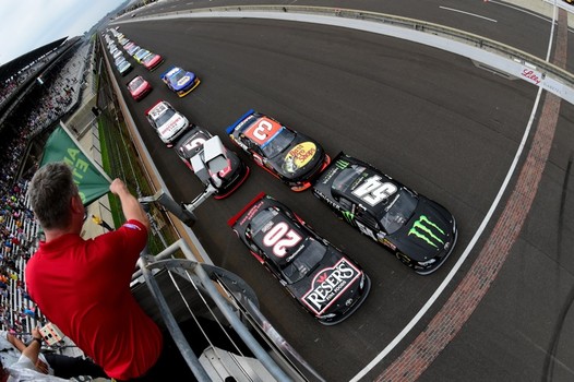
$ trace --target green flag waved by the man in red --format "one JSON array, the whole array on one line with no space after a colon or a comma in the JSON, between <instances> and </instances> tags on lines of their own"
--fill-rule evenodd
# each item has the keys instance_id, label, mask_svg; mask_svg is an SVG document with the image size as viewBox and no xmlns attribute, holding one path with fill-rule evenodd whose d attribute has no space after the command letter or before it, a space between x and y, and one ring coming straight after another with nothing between
<instances>
[{"instance_id":1,"label":"green flag waved by the man in red","mask_svg":"<svg viewBox=\"0 0 574 382\"><path fill-rule=\"evenodd\" d=\"M46 142L40 167L53 162L63 162L70 165L84 205L91 204L109 192L111 179L100 166L86 155L79 142L69 134L62 122Z\"/></svg>"}]
</instances>

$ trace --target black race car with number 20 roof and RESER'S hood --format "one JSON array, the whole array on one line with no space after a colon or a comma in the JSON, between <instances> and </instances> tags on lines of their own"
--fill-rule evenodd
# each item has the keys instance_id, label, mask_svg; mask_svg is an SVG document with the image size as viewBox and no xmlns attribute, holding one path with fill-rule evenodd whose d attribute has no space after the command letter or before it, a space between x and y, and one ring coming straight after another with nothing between
<instances>
[{"instance_id":1,"label":"black race car with number 20 roof and RESER'S hood","mask_svg":"<svg viewBox=\"0 0 574 382\"><path fill-rule=\"evenodd\" d=\"M227 223L320 323L342 322L369 295L371 282L359 264L272 196L260 193Z\"/></svg>"}]
</instances>

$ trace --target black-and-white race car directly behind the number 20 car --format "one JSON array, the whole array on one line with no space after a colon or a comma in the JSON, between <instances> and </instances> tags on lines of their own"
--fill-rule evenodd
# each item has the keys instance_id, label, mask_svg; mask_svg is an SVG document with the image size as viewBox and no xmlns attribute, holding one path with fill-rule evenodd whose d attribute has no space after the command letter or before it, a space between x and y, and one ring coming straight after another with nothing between
<instances>
[{"instance_id":1,"label":"black-and-white race car directly behind the number 20 car","mask_svg":"<svg viewBox=\"0 0 574 382\"><path fill-rule=\"evenodd\" d=\"M181 135L177 144L174 146L174 150L186 166L193 171L191 158L195 155L200 155L202 160L204 160L203 144L211 138L213 138L213 135L206 129L193 126L188 132ZM213 195L214 199L229 196L249 176L249 167L237 156L236 153L227 150L226 156L228 166L219 172L210 172L210 176L212 177L210 179L210 184L217 190ZM217 180L220 180L220 182Z\"/></svg>"}]
</instances>

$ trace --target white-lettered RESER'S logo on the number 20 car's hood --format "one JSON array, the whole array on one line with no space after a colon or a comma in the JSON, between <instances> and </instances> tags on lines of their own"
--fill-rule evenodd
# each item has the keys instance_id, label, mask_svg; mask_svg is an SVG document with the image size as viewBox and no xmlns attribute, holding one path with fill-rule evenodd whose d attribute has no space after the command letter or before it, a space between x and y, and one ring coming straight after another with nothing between
<instances>
[{"instance_id":1,"label":"white-lettered RESER'S logo on the number 20 car's hood","mask_svg":"<svg viewBox=\"0 0 574 382\"><path fill-rule=\"evenodd\" d=\"M340 259L313 277L301 301L315 314L322 314L360 275L361 272L351 262Z\"/></svg>"}]
</instances>

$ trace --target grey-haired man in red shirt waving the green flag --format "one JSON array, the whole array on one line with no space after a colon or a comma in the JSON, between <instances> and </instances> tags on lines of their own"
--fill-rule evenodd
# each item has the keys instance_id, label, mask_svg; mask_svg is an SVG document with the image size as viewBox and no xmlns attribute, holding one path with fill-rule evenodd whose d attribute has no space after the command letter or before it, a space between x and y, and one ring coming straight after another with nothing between
<instances>
[{"instance_id":1,"label":"grey-haired man in red shirt waving the green flag","mask_svg":"<svg viewBox=\"0 0 574 382\"><path fill-rule=\"evenodd\" d=\"M162 374L158 369L174 359L165 355L159 327L130 290L150 220L121 180L113 180L109 189L119 198L127 222L84 240L80 234L85 208L70 167L52 163L38 169L28 196L46 240L27 263L26 286L47 319L110 378L156 380L154 373Z\"/></svg>"}]
</instances>

